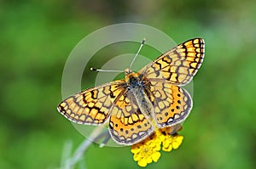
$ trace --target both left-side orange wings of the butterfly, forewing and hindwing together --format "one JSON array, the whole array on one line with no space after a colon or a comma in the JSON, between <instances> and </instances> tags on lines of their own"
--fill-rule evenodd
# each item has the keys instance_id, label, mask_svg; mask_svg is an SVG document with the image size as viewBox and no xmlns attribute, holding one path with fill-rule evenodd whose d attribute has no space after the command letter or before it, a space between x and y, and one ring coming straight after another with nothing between
<instances>
[{"instance_id":1,"label":"both left-side orange wings of the butterfly, forewing and hindwing together","mask_svg":"<svg viewBox=\"0 0 256 169\"><path fill-rule=\"evenodd\" d=\"M57 110L68 120L102 125L109 116L109 133L118 144L138 143L152 132L148 119L138 109L123 80L92 87L64 99Z\"/></svg>"}]
</instances>

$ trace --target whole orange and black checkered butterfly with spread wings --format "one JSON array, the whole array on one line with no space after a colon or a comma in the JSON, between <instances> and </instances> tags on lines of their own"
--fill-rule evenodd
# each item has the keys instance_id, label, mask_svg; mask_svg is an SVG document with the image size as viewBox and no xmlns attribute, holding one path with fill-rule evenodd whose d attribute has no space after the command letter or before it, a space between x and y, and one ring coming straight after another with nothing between
<instances>
[{"instance_id":1,"label":"whole orange and black checkered butterfly with spread wings","mask_svg":"<svg viewBox=\"0 0 256 169\"><path fill-rule=\"evenodd\" d=\"M68 120L102 125L118 144L137 144L158 128L182 123L192 108L183 89L201 67L205 42L194 38L177 45L125 79L88 88L64 99L57 110Z\"/></svg>"}]
</instances>

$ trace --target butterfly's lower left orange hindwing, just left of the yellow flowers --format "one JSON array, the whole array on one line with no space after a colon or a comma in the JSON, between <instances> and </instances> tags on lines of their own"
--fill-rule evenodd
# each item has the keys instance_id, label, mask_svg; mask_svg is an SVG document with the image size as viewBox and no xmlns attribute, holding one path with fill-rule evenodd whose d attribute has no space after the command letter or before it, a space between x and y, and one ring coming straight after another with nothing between
<instances>
[{"instance_id":1,"label":"butterfly's lower left orange hindwing, just left of the yellow flowers","mask_svg":"<svg viewBox=\"0 0 256 169\"><path fill-rule=\"evenodd\" d=\"M154 132L131 93L119 97L111 111L109 132L118 144L136 144Z\"/></svg>"}]
</instances>

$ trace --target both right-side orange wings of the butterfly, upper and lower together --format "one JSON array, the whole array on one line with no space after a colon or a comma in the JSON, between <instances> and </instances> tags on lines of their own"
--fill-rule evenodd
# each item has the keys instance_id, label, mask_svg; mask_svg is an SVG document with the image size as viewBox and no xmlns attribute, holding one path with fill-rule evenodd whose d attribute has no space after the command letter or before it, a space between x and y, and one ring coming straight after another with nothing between
<instances>
[{"instance_id":1,"label":"both right-side orange wings of the butterfly, upper and lower together","mask_svg":"<svg viewBox=\"0 0 256 169\"><path fill-rule=\"evenodd\" d=\"M201 67L204 53L203 39L191 39L162 54L139 71L139 74L151 82L158 127L170 127L188 117L192 99L179 86L192 80Z\"/></svg>"}]
</instances>

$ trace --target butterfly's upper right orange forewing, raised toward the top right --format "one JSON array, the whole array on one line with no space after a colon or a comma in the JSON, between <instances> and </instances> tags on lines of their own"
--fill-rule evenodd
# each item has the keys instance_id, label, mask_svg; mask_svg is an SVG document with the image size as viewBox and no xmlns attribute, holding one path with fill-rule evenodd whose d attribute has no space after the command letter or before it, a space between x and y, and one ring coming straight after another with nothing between
<instances>
[{"instance_id":1,"label":"butterfly's upper right orange forewing, raised toward the top right","mask_svg":"<svg viewBox=\"0 0 256 169\"><path fill-rule=\"evenodd\" d=\"M191 81L200 68L204 53L203 39L191 39L162 54L139 73L152 81L161 79L175 85L185 85Z\"/></svg>"}]
</instances>

